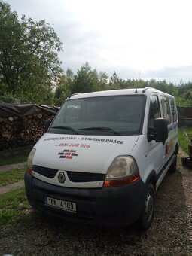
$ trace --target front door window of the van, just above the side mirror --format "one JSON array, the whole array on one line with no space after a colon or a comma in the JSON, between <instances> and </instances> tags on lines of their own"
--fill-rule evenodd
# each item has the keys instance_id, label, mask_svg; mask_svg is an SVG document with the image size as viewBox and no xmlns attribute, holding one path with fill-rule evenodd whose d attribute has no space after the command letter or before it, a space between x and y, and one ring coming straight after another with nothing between
<instances>
[{"instance_id":1,"label":"front door window of the van, just above the side mirror","mask_svg":"<svg viewBox=\"0 0 192 256\"><path fill-rule=\"evenodd\" d=\"M159 117L161 117L159 99L157 96L151 96L149 109L149 126L154 126L154 120Z\"/></svg>"}]
</instances>

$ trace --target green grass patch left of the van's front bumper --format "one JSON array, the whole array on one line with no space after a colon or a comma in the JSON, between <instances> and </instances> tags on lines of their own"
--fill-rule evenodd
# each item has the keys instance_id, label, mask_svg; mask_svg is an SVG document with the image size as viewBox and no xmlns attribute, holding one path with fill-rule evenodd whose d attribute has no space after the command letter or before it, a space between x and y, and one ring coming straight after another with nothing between
<instances>
[{"instance_id":1,"label":"green grass patch left of the van's front bumper","mask_svg":"<svg viewBox=\"0 0 192 256\"><path fill-rule=\"evenodd\" d=\"M25 216L31 206L26 199L24 187L0 195L0 227L13 224Z\"/></svg>"}]
</instances>

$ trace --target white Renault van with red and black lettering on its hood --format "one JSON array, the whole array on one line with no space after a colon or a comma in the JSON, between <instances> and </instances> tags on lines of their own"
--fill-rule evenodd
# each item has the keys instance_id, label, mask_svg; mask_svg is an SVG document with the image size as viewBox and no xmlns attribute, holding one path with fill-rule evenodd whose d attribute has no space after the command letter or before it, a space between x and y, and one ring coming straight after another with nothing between
<instances>
[{"instance_id":1,"label":"white Renault van with red and black lettering on its hood","mask_svg":"<svg viewBox=\"0 0 192 256\"><path fill-rule=\"evenodd\" d=\"M148 87L75 94L29 154L26 195L66 220L147 229L178 146L173 96Z\"/></svg>"}]
</instances>

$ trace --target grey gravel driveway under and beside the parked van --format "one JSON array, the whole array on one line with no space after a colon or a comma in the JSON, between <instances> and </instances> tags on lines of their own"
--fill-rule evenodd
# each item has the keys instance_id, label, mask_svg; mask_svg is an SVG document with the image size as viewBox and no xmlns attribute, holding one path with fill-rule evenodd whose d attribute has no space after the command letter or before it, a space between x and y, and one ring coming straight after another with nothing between
<instances>
[{"instance_id":1,"label":"grey gravel driveway under and beside the parked van","mask_svg":"<svg viewBox=\"0 0 192 256\"><path fill-rule=\"evenodd\" d=\"M0 255L192 255L191 197L192 171L178 163L157 191L154 223L145 233L67 223L30 210L22 222L0 228Z\"/></svg>"}]
</instances>

